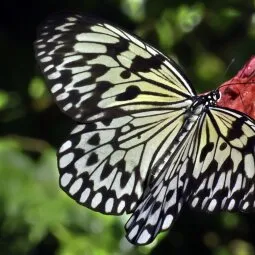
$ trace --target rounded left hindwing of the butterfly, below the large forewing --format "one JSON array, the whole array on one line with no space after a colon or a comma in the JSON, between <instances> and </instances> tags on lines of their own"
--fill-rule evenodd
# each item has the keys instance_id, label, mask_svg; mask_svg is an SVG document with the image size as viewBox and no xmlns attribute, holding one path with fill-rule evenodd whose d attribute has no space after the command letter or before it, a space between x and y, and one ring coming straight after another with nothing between
<instances>
[{"instance_id":1,"label":"rounded left hindwing of the butterfly, below the large forewing","mask_svg":"<svg viewBox=\"0 0 255 255\"><path fill-rule=\"evenodd\" d=\"M183 109L153 111L78 125L58 152L60 186L95 211L132 212L183 115Z\"/></svg>"}]
</instances>

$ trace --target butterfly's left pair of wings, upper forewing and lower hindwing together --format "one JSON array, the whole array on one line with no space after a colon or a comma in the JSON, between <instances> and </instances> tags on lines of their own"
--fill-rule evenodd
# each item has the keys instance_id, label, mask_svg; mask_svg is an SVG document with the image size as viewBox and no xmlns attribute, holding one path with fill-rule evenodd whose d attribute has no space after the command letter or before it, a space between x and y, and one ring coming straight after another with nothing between
<instances>
[{"instance_id":1,"label":"butterfly's left pair of wings, upper forewing and lower hindwing together","mask_svg":"<svg viewBox=\"0 0 255 255\"><path fill-rule=\"evenodd\" d=\"M85 123L58 152L60 186L93 210L131 212L180 131L193 89L153 47L80 15L49 19L35 51L60 109Z\"/></svg>"}]
</instances>

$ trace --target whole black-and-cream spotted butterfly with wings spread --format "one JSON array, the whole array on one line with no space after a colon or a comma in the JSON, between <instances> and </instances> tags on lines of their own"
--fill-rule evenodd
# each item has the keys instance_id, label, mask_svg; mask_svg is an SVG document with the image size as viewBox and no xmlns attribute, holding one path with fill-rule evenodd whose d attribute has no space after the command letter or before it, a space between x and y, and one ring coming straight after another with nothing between
<instances>
[{"instance_id":1,"label":"whole black-and-cream spotted butterfly with wings spread","mask_svg":"<svg viewBox=\"0 0 255 255\"><path fill-rule=\"evenodd\" d=\"M61 188L104 214L132 213L126 237L148 244L183 204L252 211L255 123L197 95L180 67L121 28L79 14L38 31L36 59L76 126L57 153Z\"/></svg>"}]
</instances>

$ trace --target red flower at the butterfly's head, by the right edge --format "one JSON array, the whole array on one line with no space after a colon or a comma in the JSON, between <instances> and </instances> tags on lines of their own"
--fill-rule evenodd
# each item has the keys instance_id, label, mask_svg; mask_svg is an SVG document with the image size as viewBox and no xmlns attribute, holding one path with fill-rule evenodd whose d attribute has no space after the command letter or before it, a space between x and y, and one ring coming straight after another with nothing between
<instances>
[{"instance_id":1,"label":"red flower at the butterfly's head, by the right edge","mask_svg":"<svg viewBox=\"0 0 255 255\"><path fill-rule=\"evenodd\" d=\"M255 56L219 90L221 99L218 106L238 110L255 119Z\"/></svg>"}]
</instances>

